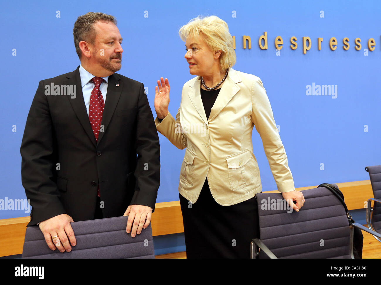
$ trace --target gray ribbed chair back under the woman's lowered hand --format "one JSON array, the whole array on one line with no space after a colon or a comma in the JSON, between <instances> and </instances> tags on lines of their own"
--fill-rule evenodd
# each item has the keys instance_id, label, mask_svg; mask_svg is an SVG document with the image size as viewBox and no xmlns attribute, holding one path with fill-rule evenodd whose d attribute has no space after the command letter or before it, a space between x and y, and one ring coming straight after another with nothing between
<instances>
[{"instance_id":1,"label":"gray ribbed chair back under the woman's lowered hand","mask_svg":"<svg viewBox=\"0 0 381 285\"><path fill-rule=\"evenodd\" d=\"M325 187L302 192L304 206L291 213L281 193L256 195L260 240L277 258L351 258L351 230L343 204ZM268 257L261 250L259 258Z\"/></svg>"}]
</instances>

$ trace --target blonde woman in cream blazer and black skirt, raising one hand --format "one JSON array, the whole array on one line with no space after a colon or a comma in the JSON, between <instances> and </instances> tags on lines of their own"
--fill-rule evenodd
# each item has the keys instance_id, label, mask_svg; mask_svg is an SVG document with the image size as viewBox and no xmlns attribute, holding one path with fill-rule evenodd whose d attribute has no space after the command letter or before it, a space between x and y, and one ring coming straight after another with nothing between
<instances>
[{"instance_id":1,"label":"blonde woman in cream blazer and black skirt, raising one hand","mask_svg":"<svg viewBox=\"0 0 381 285\"><path fill-rule=\"evenodd\" d=\"M182 88L174 118L168 112L170 84L160 78L155 90L157 130L179 149L179 197L187 258L249 258L259 237L255 194L261 192L253 154L253 127L261 136L278 191L303 207L295 190L262 81L232 69L232 36L216 16L192 19L179 30L189 72L197 75Z\"/></svg>"}]
</instances>

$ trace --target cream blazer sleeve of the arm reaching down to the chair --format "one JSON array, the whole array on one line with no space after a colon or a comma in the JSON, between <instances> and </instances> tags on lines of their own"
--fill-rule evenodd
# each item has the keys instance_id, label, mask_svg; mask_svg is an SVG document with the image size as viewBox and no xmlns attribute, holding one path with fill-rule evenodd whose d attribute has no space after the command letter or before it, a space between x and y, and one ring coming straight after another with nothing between
<instances>
[{"instance_id":1,"label":"cream blazer sleeve of the arm reaching down to the chair","mask_svg":"<svg viewBox=\"0 0 381 285\"><path fill-rule=\"evenodd\" d=\"M251 91L253 106L251 120L261 136L264 152L269 161L278 191L294 191L294 180L288 167L286 151L275 125L274 115L266 90L263 87L261 79L258 77L253 80Z\"/></svg>"}]
</instances>

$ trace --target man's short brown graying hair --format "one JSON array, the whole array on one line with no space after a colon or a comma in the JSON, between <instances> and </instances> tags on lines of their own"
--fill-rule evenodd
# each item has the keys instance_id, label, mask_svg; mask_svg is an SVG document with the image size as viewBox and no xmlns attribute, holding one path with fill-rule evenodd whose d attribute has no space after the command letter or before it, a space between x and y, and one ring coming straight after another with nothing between
<instances>
[{"instance_id":1,"label":"man's short brown graying hair","mask_svg":"<svg viewBox=\"0 0 381 285\"><path fill-rule=\"evenodd\" d=\"M82 51L79 48L79 42L85 41L94 45L96 32L93 24L98 21L113 22L115 26L117 25L117 20L114 16L94 12L89 12L85 15L79 16L77 21L75 21L73 29L74 45L79 59L81 59L82 56Z\"/></svg>"}]
</instances>

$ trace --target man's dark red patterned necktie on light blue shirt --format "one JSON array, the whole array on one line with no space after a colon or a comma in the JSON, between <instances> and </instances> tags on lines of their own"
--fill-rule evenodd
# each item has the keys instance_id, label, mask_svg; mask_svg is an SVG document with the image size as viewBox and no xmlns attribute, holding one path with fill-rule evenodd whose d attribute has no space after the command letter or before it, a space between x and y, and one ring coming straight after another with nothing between
<instances>
[{"instance_id":1,"label":"man's dark red patterned necktie on light blue shirt","mask_svg":"<svg viewBox=\"0 0 381 285\"><path fill-rule=\"evenodd\" d=\"M91 91L90 96L89 120L96 141L98 141L99 129L101 128L102 115L104 110L104 101L102 92L100 90L100 86L103 81L104 79L101 77L91 78L91 82L94 83L94 88L93 91ZM98 197L101 197L99 194L99 184L97 195Z\"/></svg>"}]
</instances>

